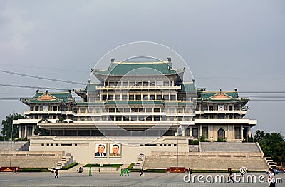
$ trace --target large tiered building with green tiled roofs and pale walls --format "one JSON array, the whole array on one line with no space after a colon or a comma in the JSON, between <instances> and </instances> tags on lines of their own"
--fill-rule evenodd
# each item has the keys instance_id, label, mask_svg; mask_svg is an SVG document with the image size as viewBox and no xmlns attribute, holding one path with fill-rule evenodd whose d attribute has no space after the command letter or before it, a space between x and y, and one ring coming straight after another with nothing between
<instances>
[{"instance_id":1,"label":"large tiered building with green tiled roofs and pale walls","mask_svg":"<svg viewBox=\"0 0 285 187\"><path fill-rule=\"evenodd\" d=\"M36 91L21 98L29 106L26 119L14 121L19 138L31 139L30 151L68 151L85 163L96 160L103 144L108 163L132 161L139 153L189 151L189 140L240 142L251 135L256 120L244 118L249 98L234 91L206 91L186 82L185 69L172 67L171 59L155 62L117 62L108 69L93 69L98 83L86 88L50 93ZM49 136L35 136L39 126ZM111 151L119 143L120 159ZM136 145L136 146L134 146ZM110 152L110 156L108 153ZM86 156L82 156L82 153ZM124 156L134 153L135 156ZM95 160L94 160L95 159ZM105 161L106 162L106 161Z\"/></svg>"}]
</instances>

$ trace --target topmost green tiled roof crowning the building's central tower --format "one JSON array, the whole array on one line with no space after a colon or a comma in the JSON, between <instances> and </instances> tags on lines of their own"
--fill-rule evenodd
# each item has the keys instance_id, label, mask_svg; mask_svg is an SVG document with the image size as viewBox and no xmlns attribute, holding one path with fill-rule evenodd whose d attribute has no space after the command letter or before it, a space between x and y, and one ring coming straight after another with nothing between
<instances>
[{"instance_id":1,"label":"topmost green tiled roof crowning the building's central tower","mask_svg":"<svg viewBox=\"0 0 285 187\"><path fill-rule=\"evenodd\" d=\"M93 70L95 74L140 74L140 75L159 75L159 74L178 74L184 72L184 69L173 69L168 62L114 62L105 70Z\"/></svg>"}]
</instances>

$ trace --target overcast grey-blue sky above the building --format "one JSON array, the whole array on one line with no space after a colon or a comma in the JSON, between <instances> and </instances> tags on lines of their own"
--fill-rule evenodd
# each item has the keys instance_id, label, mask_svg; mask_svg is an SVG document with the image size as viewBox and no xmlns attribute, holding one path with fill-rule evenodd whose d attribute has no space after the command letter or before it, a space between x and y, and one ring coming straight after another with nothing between
<instances>
[{"instance_id":1,"label":"overcast grey-blue sky above the building","mask_svg":"<svg viewBox=\"0 0 285 187\"><path fill-rule=\"evenodd\" d=\"M197 86L208 91L285 91L284 23L282 0L1 0L0 69L87 83L90 69L111 49L152 41L177 51ZM109 63L105 61L106 68ZM175 66L175 61L172 64ZM84 87L3 72L0 84ZM0 119L28 111L19 100L3 98L25 98L35 92L0 86ZM245 116L258 120L252 131L285 135L285 93L239 95L252 100ZM264 101L273 99L278 101Z\"/></svg>"}]
</instances>

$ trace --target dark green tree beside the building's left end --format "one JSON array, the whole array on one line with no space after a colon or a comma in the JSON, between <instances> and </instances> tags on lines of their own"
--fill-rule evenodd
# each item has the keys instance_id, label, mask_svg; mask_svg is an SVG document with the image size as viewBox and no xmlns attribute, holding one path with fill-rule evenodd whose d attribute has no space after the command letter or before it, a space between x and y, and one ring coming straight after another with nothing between
<instances>
[{"instance_id":1,"label":"dark green tree beside the building's left end","mask_svg":"<svg viewBox=\"0 0 285 187\"><path fill-rule=\"evenodd\" d=\"M12 129L12 121L16 119L26 118L26 116L22 116L19 113L13 113L9 116L6 116L5 120L2 120L2 129L1 134L4 136L5 139L11 138L11 129ZM18 138L19 136L19 127L14 125L13 126L13 138Z\"/></svg>"}]
</instances>

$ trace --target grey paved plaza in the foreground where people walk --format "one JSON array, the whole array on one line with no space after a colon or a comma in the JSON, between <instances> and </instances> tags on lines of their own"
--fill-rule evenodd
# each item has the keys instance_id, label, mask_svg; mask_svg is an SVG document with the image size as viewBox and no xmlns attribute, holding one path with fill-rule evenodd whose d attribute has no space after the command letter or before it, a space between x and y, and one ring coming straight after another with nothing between
<instances>
[{"instance_id":1,"label":"grey paved plaza in the foreground where people walk","mask_svg":"<svg viewBox=\"0 0 285 187\"><path fill-rule=\"evenodd\" d=\"M216 173L194 173L195 175L216 176ZM268 186L266 183L185 183L184 173L130 173L130 176L120 176L118 173L59 173L59 178L54 178L54 173L0 173L0 186ZM224 175L226 176L226 175ZM255 176L259 176L256 174ZM266 176L266 174L264 174ZM284 186L285 175L277 175ZM205 178L204 178L205 180Z\"/></svg>"}]
</instances>

